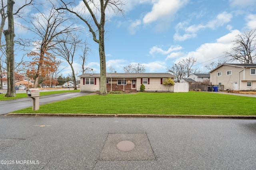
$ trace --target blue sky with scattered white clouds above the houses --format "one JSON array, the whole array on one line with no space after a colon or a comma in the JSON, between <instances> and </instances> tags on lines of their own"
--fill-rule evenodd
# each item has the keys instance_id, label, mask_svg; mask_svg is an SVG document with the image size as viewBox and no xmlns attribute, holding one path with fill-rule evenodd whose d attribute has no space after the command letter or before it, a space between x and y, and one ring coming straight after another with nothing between
<instances>
[{"instance_id":1,"label":"blue sky with scattered white clouds above the houses","mask_svg":"<svg viewBox=\"0 0 256 170\"><path fill-rule=\"evenodd\" d=\"M83 8L82 1L77 4ZM140 63L146 73L164 73L174 63L194 57L201 73L208 73L206 65L227 59L224 51L231 51L236 35L256 28L255 0L127 0L123 7L124 16L106 14L107 72L111 66L124 73L124 66ZM77 21L85 28L81 38L91 49L86 67L100 73L98 44ZM79 52L73 66L80 75ZM63 75L71 73L64 61L62 67Z\"/></svg>"}]
</instances>

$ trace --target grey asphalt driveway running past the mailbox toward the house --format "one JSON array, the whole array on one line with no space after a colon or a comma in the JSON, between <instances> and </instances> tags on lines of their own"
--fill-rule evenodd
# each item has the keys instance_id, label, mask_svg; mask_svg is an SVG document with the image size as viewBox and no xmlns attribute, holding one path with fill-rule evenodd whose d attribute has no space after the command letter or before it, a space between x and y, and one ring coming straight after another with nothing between
<instances>
[{"instance_id":1,"label":"grey asphalt driveway running past the mailbox toward the house","mask_svg":"<svg viewBox=\"0 0 256 170\"><path fill-rule=\"evenodd\" d=\"M91 92L86 92L86 93L68 92L68 93L59 93L54 95L40 96L39 105L66 100L72 97L88 95L90 93ZM32 105L33 105L33 100L29 97L14 99L14 100L7 100L7 101L0 101L0 115L4 115L12 111L24 109L27 107L32 107Z\"/></svg>"}]
</instances>

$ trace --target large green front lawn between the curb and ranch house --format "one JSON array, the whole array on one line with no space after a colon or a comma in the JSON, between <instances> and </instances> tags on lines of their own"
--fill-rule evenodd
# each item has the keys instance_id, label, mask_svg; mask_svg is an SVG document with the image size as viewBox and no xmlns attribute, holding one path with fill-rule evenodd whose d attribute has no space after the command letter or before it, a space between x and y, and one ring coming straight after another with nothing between
<instances>
[{"instance_id":1,"label":"large green front lawn between the curb and ranch house","mask_svg":"<svg viewBox=\"0 0 256 170\"><path fill-rule=\"evenodd\" d=\"M88 95L14 113L256 115L256 98L208 92Z\"/></svg>"}]
</instances>

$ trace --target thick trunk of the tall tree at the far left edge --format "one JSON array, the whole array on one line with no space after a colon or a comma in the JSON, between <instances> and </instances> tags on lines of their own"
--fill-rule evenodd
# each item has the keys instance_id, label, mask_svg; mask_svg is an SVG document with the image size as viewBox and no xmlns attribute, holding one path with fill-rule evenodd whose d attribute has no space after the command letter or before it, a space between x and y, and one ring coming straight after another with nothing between
<instances>
[{"instance_id":1,"label":"thick trunk of the tall tree at the far left edge","mask_svg":"<svg viewBox=\"0 0 256 170\"><path fill-rule=\"evenodd\" d=\"M14 77L14 19L13 0L7 2L8 30L4 30L6 39L6 61L7 61L7 93L5 97L16 97Z\"/></svg>"}]
</instances>

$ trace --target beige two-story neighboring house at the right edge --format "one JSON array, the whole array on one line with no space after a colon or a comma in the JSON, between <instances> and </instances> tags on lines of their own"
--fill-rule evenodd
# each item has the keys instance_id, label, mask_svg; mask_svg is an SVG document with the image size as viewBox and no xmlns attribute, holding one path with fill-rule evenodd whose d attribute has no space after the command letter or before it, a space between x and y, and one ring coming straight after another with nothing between
<instances>
[{"instance_id":1,"label":"beige two-story neighboring house at the right edge","mask_svg":"<svg viewBox=\"0 0 256 170\"><path fill-rule=\"evenodd\" d=\"M256 89L256 64L224 63L209 73L212 85L224 85L224 90Z\"/></svg>"}]
</instances>

